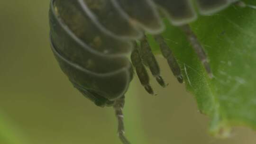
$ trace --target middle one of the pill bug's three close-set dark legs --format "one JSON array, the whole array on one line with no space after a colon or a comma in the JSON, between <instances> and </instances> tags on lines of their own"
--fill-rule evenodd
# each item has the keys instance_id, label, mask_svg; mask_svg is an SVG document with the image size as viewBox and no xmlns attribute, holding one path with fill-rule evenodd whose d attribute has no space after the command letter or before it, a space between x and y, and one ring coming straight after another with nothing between
<instances>
[{"instance_id":1,"label":"middle one of the pill bug's three close-set dark legs","mask_svg":"<svg viewBox=\"0 0 256 144\"><path fill-rule=\"evenodd\" d=\"M160 76L160 68L156 62L155 55L152 53L150 45L144 36L140 41L140 54L143 61L146 62L146 65L149 67L152 75L155 77L156 81L162 86L165 87L165 81Z\"/></svg>"}]
</instances>

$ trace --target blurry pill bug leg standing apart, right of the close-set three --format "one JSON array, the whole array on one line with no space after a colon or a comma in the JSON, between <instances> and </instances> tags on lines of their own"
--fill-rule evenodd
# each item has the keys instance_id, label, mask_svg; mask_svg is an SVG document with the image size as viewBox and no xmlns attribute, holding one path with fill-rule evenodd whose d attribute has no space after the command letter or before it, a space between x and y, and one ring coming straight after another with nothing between
<instances>
[{"instance_id":1,"label":"blurry pill bug leg standing apart, right of the close-set three","mask_svg":"<svg viewBox=\"0 0 256 144\"><path fill-rule=\"evenodd\" d=\"M212 78L213 74L210 69L210 64L208 63L208 60L207 60L207 55L205 54L202 45L198 41L197 36L193 33L189 25L184 25L184 26L181 26L180 28L187 35L187 39L192 45L192 48L194 49L199 59L201 60L201 63L203 64L209 77Z\"/></svg>"}]
</instances>

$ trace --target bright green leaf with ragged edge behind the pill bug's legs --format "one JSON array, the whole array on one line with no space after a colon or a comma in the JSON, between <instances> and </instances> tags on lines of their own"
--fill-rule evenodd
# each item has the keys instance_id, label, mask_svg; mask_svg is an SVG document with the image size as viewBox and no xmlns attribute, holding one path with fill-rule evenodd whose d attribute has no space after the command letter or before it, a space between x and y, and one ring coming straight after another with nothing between
<instances>
[{"instance_id":1,"label":"bright green leaf with ragged edge behind the pill bug's legs","mask_svg":"<svg viewBox=\"0 0 256 144\"><path fill-rule=\"evenodd\" d=\"M256 5L255 0L245 2ZM178 27L166 22L163 36L182 68L187 90L210 117L211 134L226 136L232 126L256 129L256 9L230 6L199 17L191 27L208 54L212 80Z\"/></svg>"}]
</instances>

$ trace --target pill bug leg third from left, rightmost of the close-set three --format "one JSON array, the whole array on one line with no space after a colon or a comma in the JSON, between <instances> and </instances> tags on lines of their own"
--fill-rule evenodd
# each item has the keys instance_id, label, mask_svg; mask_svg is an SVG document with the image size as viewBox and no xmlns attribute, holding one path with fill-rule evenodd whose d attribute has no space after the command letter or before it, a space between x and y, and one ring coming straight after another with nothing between
<instances>
[{"instance_id":1,"label":"pill bug leg third from left, rightmost of the close-set three","mask_svg":"<svg viewBox=\"0 0 256 144\"><path fill-rule=\"evenodd\" d=\"M162 55L167 60L169 67L171 68L172 72L174 73L174 76L177 78L177 80L180 83L183 83L183 76L181 73L181 69L177 63L177 60L174 57L174 54L170 47L165 43L165 39L161 35L155 35L155 41L160 46L160 50L162 52Z\"/></svg>"}]
</instances>

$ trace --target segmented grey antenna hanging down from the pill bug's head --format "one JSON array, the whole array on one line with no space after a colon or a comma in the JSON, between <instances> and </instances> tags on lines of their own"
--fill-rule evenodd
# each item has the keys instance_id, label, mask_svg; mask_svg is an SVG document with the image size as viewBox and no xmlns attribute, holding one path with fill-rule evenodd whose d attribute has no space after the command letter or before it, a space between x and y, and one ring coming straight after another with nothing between
<instances>
[{"instance_id":1,"label":"segmented grey antenna hanging down from the pill bug's head","mask_svg":"<svg viewBox=\"0 0 256 144\"><path fill-rule=\"evenodd\" d=\"M125 96L122 96L121 98L117 99L115 101L115 104L113 105L113 108L115 110L115 115L118 120L118 135L120 140L123 144L130 144L128 139L125 137L125 128L124 128L124 115L123 115L123 108L125 104Z\"/></svg>"}]
</instances>

